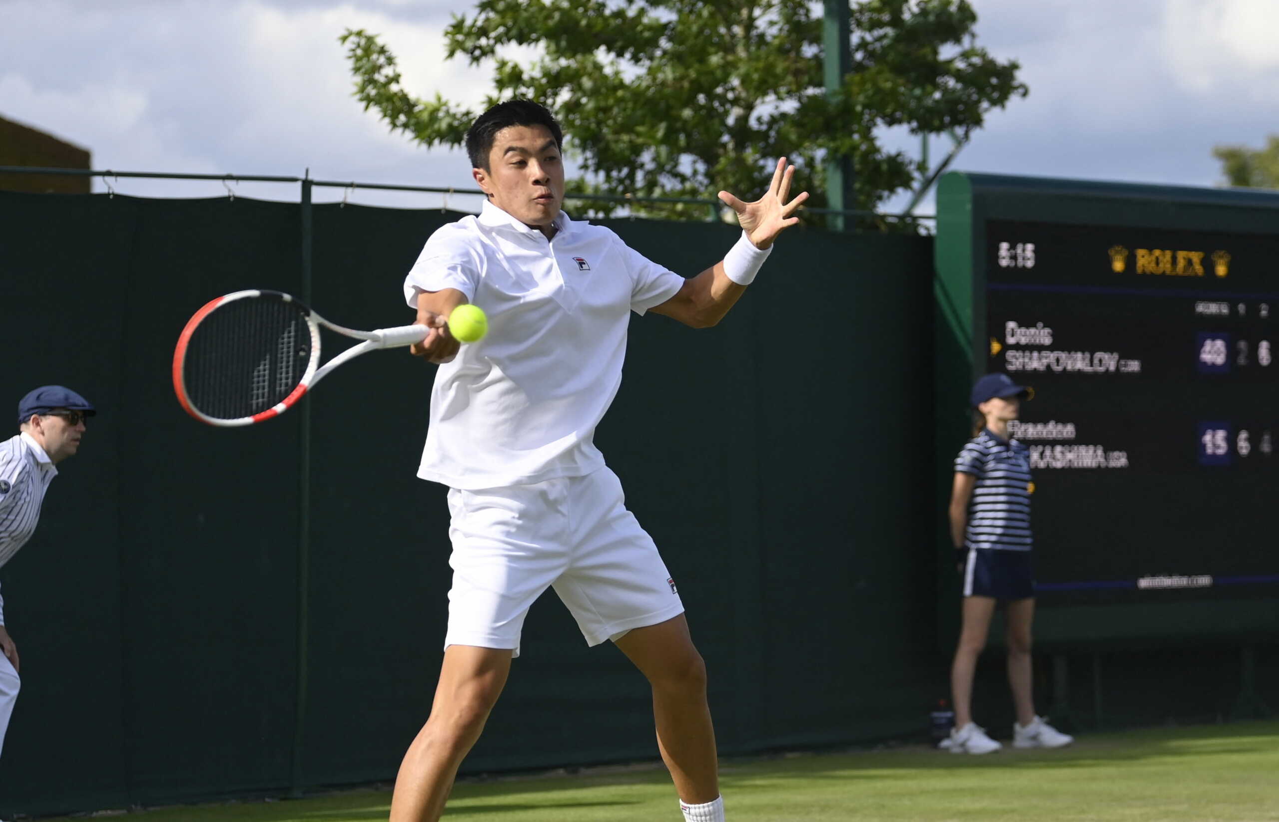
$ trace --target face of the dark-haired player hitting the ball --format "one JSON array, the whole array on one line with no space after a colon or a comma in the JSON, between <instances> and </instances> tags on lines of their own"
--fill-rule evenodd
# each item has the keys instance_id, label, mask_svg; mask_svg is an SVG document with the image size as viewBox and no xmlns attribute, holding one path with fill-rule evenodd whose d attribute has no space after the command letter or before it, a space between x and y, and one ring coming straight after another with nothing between
<instances>
[{"instance_id":1,"label":"face of the dark-haired player hitting the ball","mask_svg":"<svg viewBox=\"0 0 1279 822\"><path fill-rule=\"evenodd\" d=\"M545 125L512 125L498 132L489 170L471 171L489 202L524 225L546 226L564 202L564 162Z\"/></svg>"}]
</instances>

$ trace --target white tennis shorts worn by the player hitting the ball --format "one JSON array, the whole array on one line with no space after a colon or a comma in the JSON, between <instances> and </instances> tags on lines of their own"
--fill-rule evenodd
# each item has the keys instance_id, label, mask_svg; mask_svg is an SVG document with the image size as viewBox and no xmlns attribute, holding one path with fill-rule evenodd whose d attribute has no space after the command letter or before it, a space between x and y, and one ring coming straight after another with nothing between
<instances>
[{"instance_id":1,"label":"white tennis shorts worn by the player hitting the ball","mask_svg":"<svg viewBox=\"0 0 1279 822\"><path fill-rule=\"evenodd\" d=\"M657 546L608 468L482 491L449 490L453 588L444 647L510 648L549 585L590 646L684 612Z\"/></svg>"}]
</instances>

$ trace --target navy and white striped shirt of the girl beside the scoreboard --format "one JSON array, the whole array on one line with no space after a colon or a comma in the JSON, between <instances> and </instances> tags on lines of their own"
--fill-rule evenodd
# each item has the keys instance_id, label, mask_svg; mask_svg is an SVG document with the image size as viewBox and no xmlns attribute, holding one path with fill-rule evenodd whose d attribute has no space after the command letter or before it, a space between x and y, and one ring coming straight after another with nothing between
<instances>
[{"instance_id":1,"label":"navy and white striped shirt of the girl beside the scoreboard","mask_svg":"<svg viewBox=\"0 0 1279 822\"><path fill-rule=\"evenodd\" d=\"M1030 449L982 430L959 451L955 470L977 478L964 547L1030 551Z\"/></svg>"}]
</instances>

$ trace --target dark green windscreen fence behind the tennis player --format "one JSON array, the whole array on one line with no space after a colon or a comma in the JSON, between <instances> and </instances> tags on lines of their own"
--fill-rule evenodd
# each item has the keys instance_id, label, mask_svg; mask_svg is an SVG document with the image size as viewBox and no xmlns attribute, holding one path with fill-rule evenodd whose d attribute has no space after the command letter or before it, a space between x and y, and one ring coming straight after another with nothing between
<instances>
[{"instance_id":1,"label":"dark green windscreen fence behind the tennis player","mask_svg":"<svg viewBox=\"0 0 1279 822\"><path fill-rule=\"evenodd\" d=\"M311 213L312 302L353 327L411 321L404 272L458 217ZM432 369L370 355L310 418L249 430L173 399L194 308L303 290L302 222L295 203L243 198L0 194L0 401L60 382L102 409L0 571L23 655L0 814L389 780L426 718L449 587L444 491L414 478ZM609 225L686 274L734 238ZM679 582L725 752L909 733L944 688L931 253L797 230L719 327L632 323L599 442ZM620 653L588 651L553 596L524 637L469 772L656 757Z\"/></svg>"}]
</instances>

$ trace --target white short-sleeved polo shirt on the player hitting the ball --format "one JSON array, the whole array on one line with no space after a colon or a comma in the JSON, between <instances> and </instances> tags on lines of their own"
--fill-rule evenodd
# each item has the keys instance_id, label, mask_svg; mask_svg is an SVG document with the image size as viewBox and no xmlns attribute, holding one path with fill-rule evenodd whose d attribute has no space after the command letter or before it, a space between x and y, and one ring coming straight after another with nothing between
<instances>
[{"instance_id":1,"label":"white short-sleeved polo shirt on the player hitting the ball","mask_svg":"<svg viewBox=\"0 0 1279 822\"><path fill-rule=\"evenodd\" d=\"M581 477L604 465L595 427L622 385L629 312L684 279L606 228L560 212L547 240L490 203L441 226L404 280L458 289L489 316L483 340L439 367L417 476L475 491Z\"/></svg>"}]
</instances>

